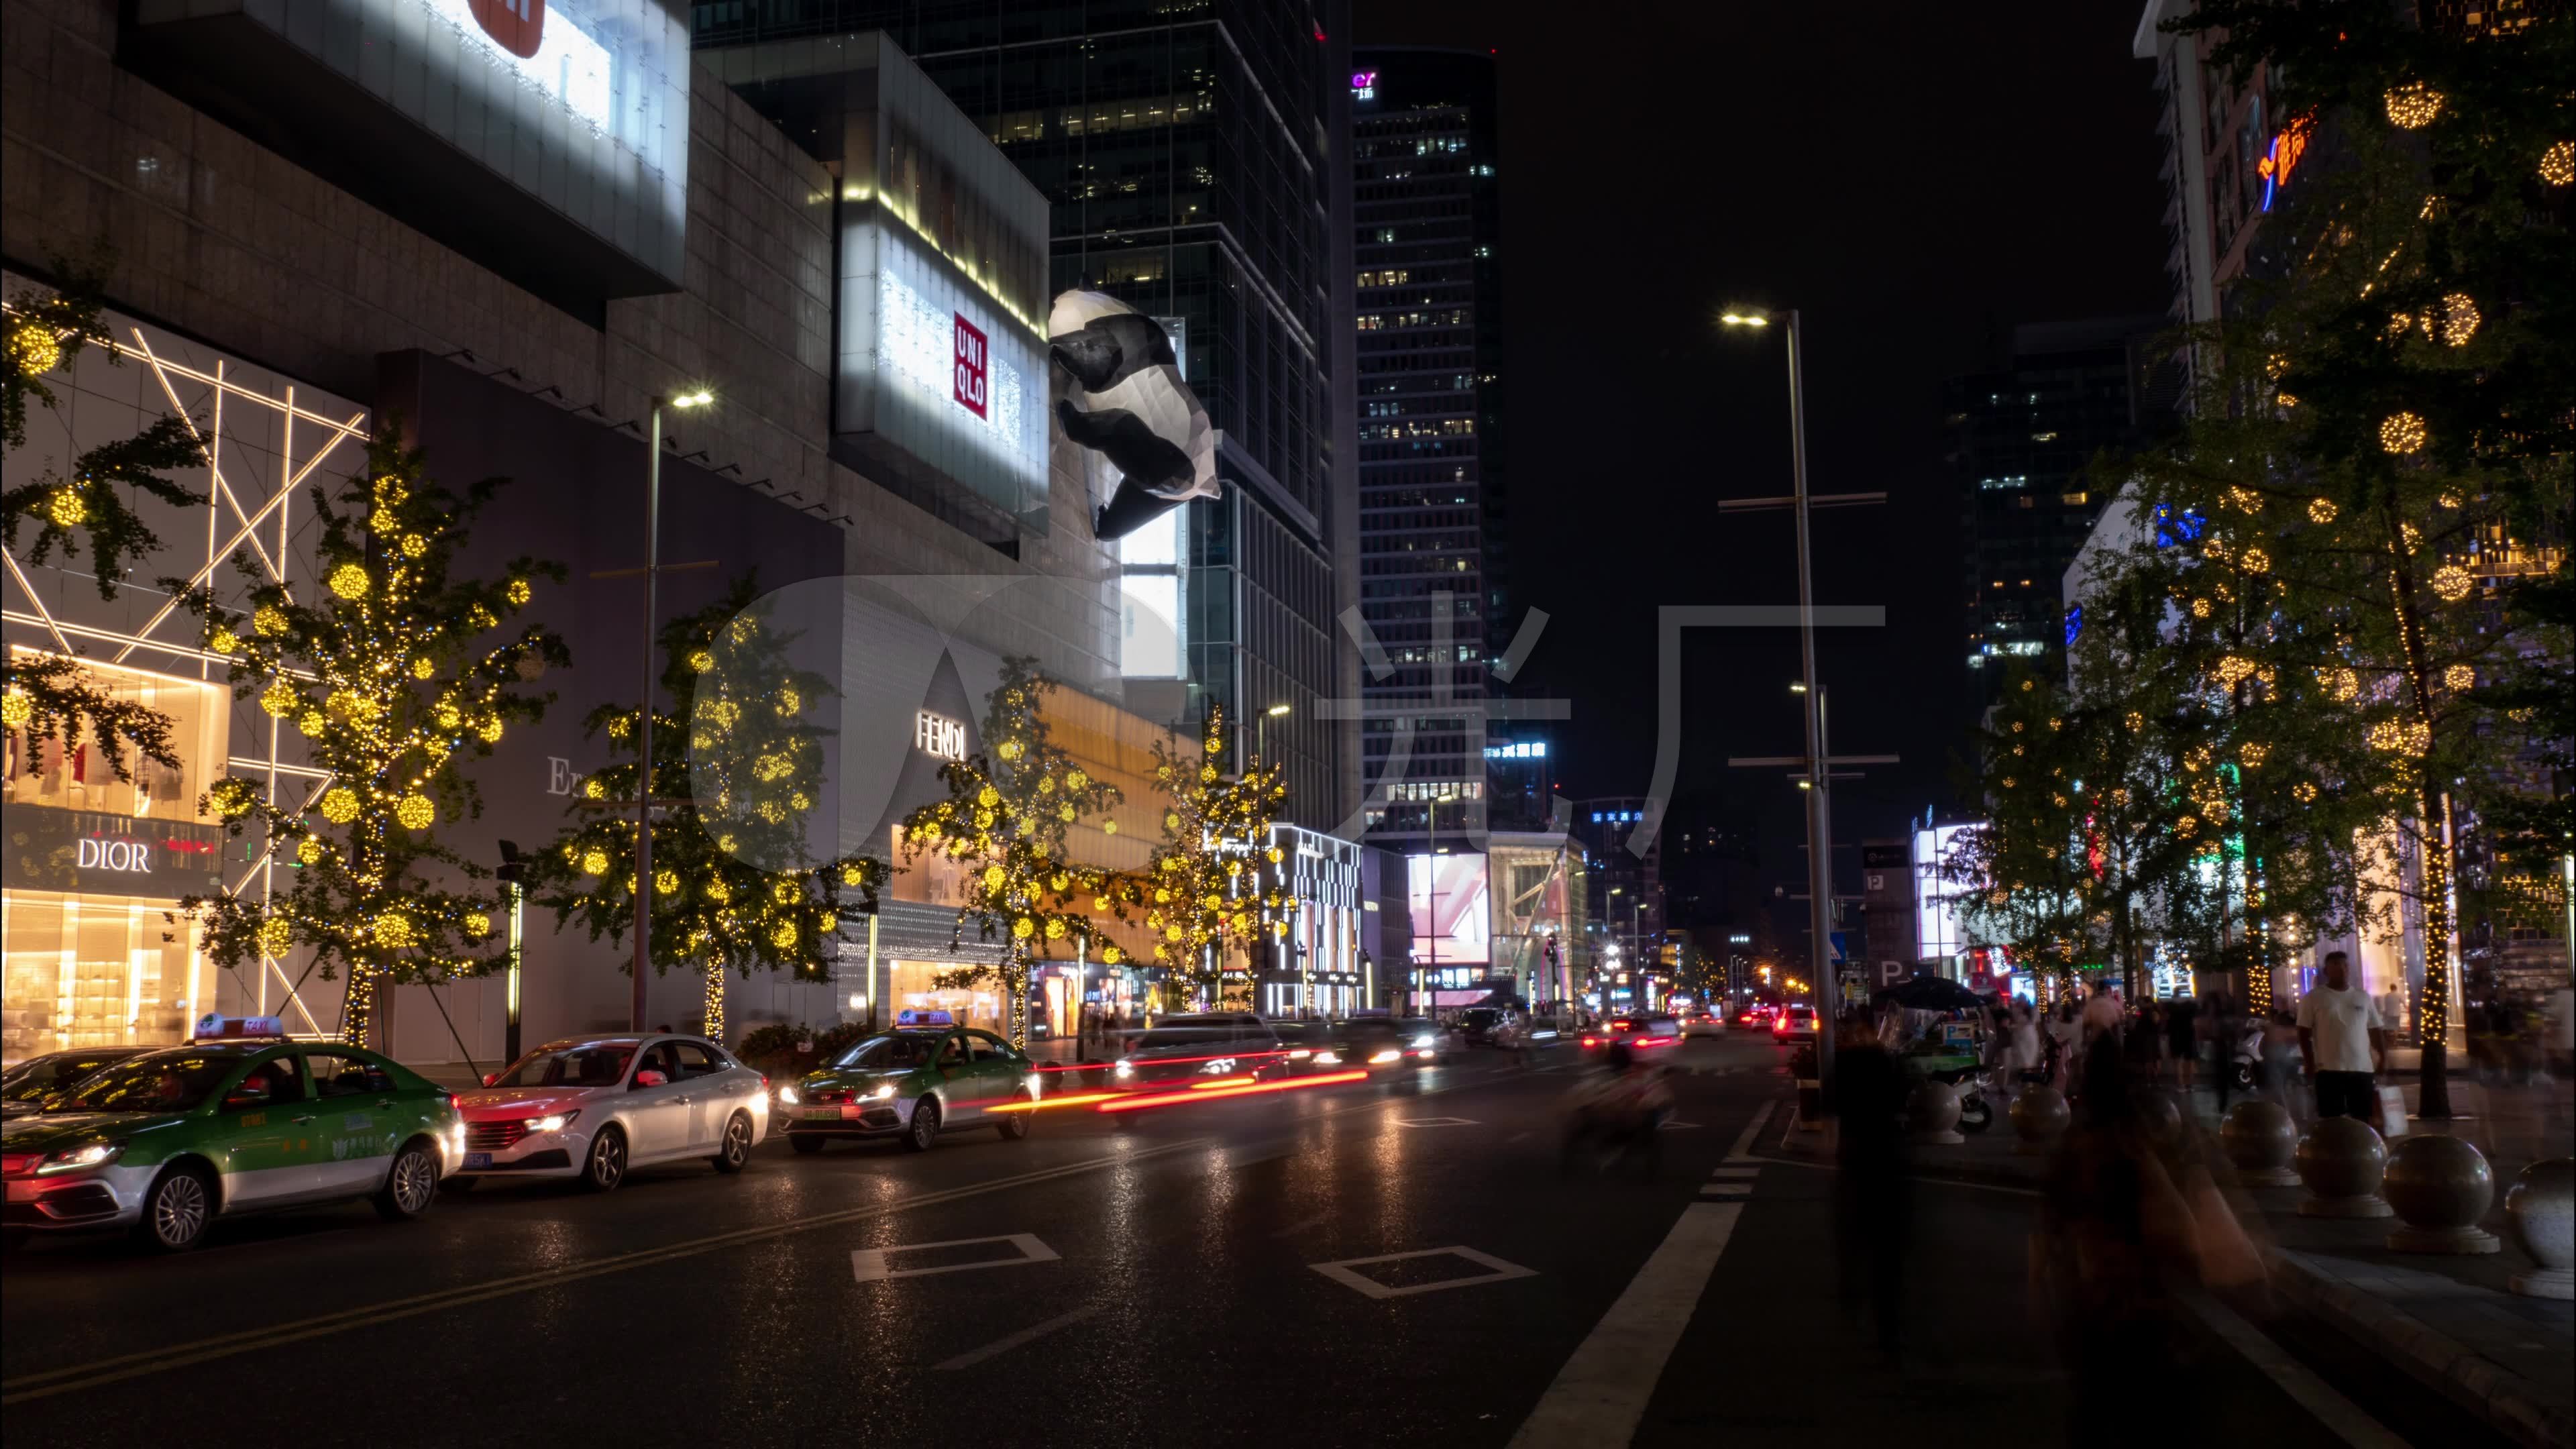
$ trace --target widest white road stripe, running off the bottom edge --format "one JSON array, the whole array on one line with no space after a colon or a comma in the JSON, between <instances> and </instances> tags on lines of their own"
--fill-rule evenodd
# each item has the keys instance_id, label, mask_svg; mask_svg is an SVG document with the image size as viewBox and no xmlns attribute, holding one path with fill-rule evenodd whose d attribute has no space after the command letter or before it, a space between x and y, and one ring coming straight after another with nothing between
<instances>
[{"instance_id":1,"label":"widest white road stripe, running off the bottom edge","mask_svg":"<svg viewBox=\"0 0 2576 1449\"><path fill-rule=\"evenodd\" d=\"M1597 1449L1628 1444L1656 1379L1682 1341L1718 1253L1744 1217L1741 1201L1695 1201L1574 1348L1538 1397L1512 1449Z\"/></svg>"}]
</instances>

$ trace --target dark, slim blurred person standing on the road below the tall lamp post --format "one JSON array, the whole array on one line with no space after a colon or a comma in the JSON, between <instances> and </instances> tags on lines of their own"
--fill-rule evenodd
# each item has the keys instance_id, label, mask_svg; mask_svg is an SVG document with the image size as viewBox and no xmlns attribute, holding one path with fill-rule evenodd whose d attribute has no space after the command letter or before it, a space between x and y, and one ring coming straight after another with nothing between
<instances>
[{"instance_id":1,"label":"dark, slim blurred person standing on the road below the tall lamp post","mask_svg":"<svg viewBox=\"0 0 2576 1449\"><path fill-rule=\"evenodd\" d=\"M1870 1305L1878 1351L1888 1366L1904 1351L1904 1276L1909 1178L1904 1137L1896 1116L1906 1104L1906 1075L1896 1057L1868 1031L1842 1039L1834 1060L1834 1238L1842 1312Z\"/></svg>"}]
</instances>

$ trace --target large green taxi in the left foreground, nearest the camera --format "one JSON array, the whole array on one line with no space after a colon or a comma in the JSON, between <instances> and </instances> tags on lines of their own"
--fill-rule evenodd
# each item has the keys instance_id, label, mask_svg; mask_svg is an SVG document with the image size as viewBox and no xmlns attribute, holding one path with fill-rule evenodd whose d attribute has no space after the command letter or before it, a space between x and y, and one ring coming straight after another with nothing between
<instances>
[{"instance_id":1,"label":"large green taxi in the left foreground, nearest the camera","mask_svg":"<svg viewBox=\"0 0 2576 1449\"><path fill-rule=\"evenodd\" d=\"M371 1199L420 1217L464 1158L446 1088L337 1044L196 1042L111 1062L0 1129L5 1232L131 1227L180 1253L216 1217Z\"/></svg>"}]
</instances>

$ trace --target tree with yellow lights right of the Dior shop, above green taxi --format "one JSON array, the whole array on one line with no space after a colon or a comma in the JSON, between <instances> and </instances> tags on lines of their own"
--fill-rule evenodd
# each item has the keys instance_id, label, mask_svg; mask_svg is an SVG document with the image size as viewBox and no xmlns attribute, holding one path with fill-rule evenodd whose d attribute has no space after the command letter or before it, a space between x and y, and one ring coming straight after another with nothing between
<instances>
[{"instance_id":1,"label":"tree with yellow lights right of the Dior shop, above green taxi","mask_svg":"<svg viewBox=\"0 0 2576 1449\"><path fill-rule=\"evenodd\" d=\"M554 696L528 683L572 660L544 627L510 624L538 578L564 578L559 565L515 559L500 580L448 572L500 480L459 498L428 480L392 425L366 462L337 498L312 495L314 598L268 583L247 557L234 559L252 580L247 614L188 596L206 647L232 657L234 696L301 730L322 779L286 799L216 781L204 810L234 835L255 830L289 887L180 902L227 967L304 946L325 980L345 969L340 1034L353 1044L366 1042L384 985L435 985L507 959L492 933L497 892L479 884L489 869L440 843L438 825L482 812L461 761L544 717Z\"/></svg>"}]
</instances>

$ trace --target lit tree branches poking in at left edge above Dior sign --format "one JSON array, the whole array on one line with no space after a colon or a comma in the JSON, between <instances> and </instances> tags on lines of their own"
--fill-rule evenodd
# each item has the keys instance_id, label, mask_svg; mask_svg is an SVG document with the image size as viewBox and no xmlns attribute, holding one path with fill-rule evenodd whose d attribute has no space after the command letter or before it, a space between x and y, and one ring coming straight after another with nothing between
<instances>
[{"instance_id":1,"label":"lit tree branches poking in at left edge above Dior sign","mask_svg":"<svg viewBox=\"0 0 2576 1449\"><path fill-rule=\"evenodd\" d=\"M0 364L5 364L0 369L0 441L8 443L10 454L26 446L28 402L46 413L62 407L62 400L46 387L46 376L67 369L93 343L106 351L111 364L124 361L111 345L108 327L98 320L106 263L80 266L57 258L54 271L64 278L59 291L33 289L8 299L8 333L0 338ZM33 521L36 539L26 554L31 565L41 565L54 549L62 549L64 559L77 559L88 544L98 596L116 598L126 570L160 549L160 539L134 511L126 490L175 508L193 508L204 498L170 482L162 472L204 462L206 454L185 418L155 418L131 438L82 451L70 462L70 472L44 469L0 492L0 541L15 549L18 529ZM129 779L129 753L167 768L180 763L170 748L167 714L100 688L77 660L64 655L0 650L0 724L26 730L36 740L59 737L64 750L80 748L88 737L116 779Z\"/></svg>"}]
</instances>

